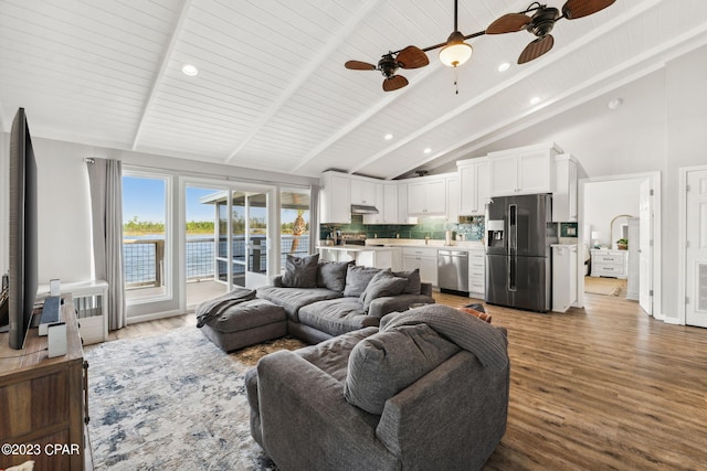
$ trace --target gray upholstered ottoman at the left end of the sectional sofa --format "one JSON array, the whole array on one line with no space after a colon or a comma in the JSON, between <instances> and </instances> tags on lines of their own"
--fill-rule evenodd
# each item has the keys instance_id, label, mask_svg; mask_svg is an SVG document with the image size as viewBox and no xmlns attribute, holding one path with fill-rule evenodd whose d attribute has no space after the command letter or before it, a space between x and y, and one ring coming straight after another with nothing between
<instances>
[{"instance_id":1,"label":"gray upholstered ottoman at the left end of the sectional sofa","mask_svg":"<svg viewBox=\"0 0 707 471\"><path fill-rule=\"evenodd\" d=\"M287 333L285 310L264 299L253 299L224 310L201 328L224 352L278 339Z\"/></svg>"}]
</instances>

